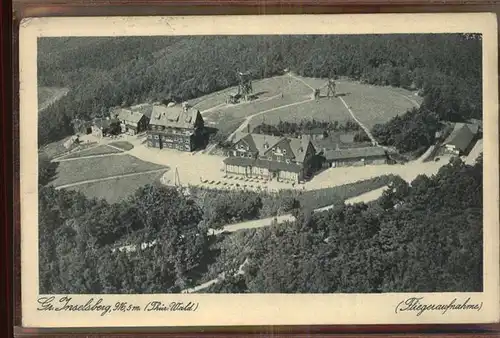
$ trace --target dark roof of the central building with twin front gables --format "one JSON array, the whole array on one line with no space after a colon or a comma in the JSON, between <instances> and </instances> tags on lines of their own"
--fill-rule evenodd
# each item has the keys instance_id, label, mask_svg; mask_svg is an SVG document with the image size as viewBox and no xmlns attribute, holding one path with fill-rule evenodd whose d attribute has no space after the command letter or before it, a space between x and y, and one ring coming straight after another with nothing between
<instances>
[{"instance_id":1,"label":"dark roof of the central building with twin front gables","mask_svg":"<svg viewBox=\"0 0 500 338\"><path fill-rule=\"evenodd\" d=\"M292 150L295 161L303 162L307 153L307 147L311 143L311 138L304 136L301 139L291 138L291 137L278 137L270 136L264 134L245 134L235 143L239 141L244 141L248 144L251 151L257 152L259 156L265 156L266 153L271 150L280 142L287 142Z\"/></svg>"}]
</instances>

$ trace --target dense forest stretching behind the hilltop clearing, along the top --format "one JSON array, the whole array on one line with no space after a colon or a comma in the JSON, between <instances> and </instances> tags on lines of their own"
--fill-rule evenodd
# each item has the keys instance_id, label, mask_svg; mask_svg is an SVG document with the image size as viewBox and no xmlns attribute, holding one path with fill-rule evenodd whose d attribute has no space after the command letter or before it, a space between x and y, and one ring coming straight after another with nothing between
<instances>
[{"instance_id":1,"label":"dense forest stretching behind the hilltop clearing, along the top","mask_svg":"<svg viewBox=\"0 0 500 338\"><path fill-rule=\"evenodd\" d=\"M235 85L237 70L404 87L440 119L480 118L481 58L481 37L463 34L40 38L39 86L70 92L40 114L39 143L70 134L74 117Z\"/></svg>"}]
</instances>

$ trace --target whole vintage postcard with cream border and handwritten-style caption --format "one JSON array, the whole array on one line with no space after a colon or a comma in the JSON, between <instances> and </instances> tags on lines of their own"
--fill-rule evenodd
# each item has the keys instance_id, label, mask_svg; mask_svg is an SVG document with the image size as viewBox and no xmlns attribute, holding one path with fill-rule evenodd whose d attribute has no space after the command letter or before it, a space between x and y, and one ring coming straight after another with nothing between
<instances>
[{"instance_id":1,"label":"whole vintage postcard with cream border and handwritten-style caption","mask_svg":"<svg viewBox=\"0 0 500 338\"><path fill-rule=\"evenodd\" d=\"M26 327L499 319L493 14L20 27Z\"/></svg>"}]
</instances>

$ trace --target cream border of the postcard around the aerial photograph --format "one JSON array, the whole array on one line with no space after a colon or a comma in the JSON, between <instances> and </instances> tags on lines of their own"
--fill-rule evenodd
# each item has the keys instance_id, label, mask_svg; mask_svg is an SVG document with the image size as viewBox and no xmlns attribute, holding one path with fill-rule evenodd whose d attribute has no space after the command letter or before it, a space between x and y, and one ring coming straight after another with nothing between
<instances>
[{"instance_id":1,"label":"cream border of the postcard around the aerial photograph","mask_svg":"<svg viewBox=\"0 0 500 338\"><path fill-rule=\"evenodd\" d=\"M415 294L172 294L70 295L85 304L152 300L194 302L193 312L38 311L37 37L119 35L254 35L482 33L484 107L484 292ZM499 321L499 190L497 21L493 14L358 14L190 17L30 18L20 27L20 196L22 325L25 327L220 326L492 323ZM425 273L425 271L422 271ZM409 297L448 304L454 298L480 311L397 312Z\"/></svg>"}]
</instances>

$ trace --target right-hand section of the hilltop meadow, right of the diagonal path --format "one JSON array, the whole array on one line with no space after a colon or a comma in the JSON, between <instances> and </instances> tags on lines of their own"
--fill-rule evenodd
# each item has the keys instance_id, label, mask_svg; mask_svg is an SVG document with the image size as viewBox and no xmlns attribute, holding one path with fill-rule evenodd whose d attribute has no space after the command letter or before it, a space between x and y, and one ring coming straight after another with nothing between
<instances>
[{"instance_id":1,"label":"right-hand section of the hilltop meadow, right of the diagonal path","mask_svg":"<svg viewBox=\"0 0 500 338\"><path fill-rule=\"evenodd\" d=\"M319 88L325 83L324 79L303 78L303 80L314 88ZM421 97L402 88L372 86L346 80L337 81L337 93L368 128L377 123L385 123L422 102Z\"/></svg>"}]
</instances>

